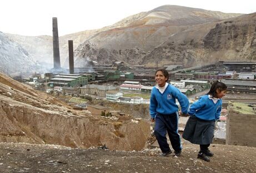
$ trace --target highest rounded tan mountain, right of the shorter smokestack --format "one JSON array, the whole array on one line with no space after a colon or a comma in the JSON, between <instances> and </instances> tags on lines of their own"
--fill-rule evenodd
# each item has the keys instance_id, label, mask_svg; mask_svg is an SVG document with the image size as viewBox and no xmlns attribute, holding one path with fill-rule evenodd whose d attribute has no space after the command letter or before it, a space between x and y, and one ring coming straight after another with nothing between
<instances>
[{"instance_id":1,"label":"highest rounded tan mountain, right of the shorter smokestack","mask_svg":"<svg viewBox=\"0 0 256 173\"><path fill-rule=\"evenodd\" d=\"M129 64L143 63L144 57L172 35L194 26L202 27L205 23L240 15L180 6L161 6L117 23L123 24L123 27L104 30L87 39L76 49L75 64L82 66L87 59L107 64L114 60ZM154 57L155 59L161 60Z\"/></svg>"}]
</instances>

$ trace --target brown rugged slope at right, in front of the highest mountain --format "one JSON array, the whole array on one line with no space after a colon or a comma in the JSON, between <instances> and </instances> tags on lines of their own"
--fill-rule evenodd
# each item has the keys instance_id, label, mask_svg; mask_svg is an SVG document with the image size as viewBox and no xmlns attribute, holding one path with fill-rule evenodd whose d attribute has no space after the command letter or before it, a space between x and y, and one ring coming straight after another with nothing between
<instances>
[{"instance_id":1,"label":"brown rugged slope at right, in front of the highest mountain","mask_svg":"<svg viewBox=\"0 0 256 173\"><path fill-rule=\"evenodd\" d=\"M171 35L142 64L187 66L216 60L256 60L256 13L200 24ZM155 58L161 57L161 58Z\"/></svg>"}]
</instances>

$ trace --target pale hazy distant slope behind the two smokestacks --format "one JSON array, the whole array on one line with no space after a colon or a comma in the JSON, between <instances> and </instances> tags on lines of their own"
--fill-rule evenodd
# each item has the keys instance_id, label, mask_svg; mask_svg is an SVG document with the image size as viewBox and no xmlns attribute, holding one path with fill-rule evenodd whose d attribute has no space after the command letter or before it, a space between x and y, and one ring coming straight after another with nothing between
<instances>
[{"instance_id":1,"label":"pale hazy distant slope behind the two smokestacks","mask_svg":"<svg viewBox=\"0 0 256 173\"><path fill-rule=\"evenodd\" d=\"M79 44L83 43L91 35L94 35L99 31L100 29L86 30L84 32L78 32L59 37L59 53L62 66L68 64L68 62L66 62L68 58L68 40L73 40L73 47L76 49ZM52 36L24 36L10 33L6 33L6 35L8 35L8 37L13 39L15 42L21 44L22 47L24 47L39 63L46 65L48 68L53 68Z\"/></svg>"}]
</instances>

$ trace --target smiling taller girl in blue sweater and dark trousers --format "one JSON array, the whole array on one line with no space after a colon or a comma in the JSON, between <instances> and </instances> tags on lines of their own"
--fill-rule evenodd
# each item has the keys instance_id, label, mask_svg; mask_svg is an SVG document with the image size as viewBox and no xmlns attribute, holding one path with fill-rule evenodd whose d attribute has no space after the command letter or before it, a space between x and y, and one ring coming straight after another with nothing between
<instances>
[{"instance_id":1,"label":"smiling taller girl in blue sweater and dark trousers","mask_svg":"<svg viewBox=\"0 0 256 173\"><path fill-rule=\"evenodd\" d=\"M153 87L151 92L149 111L151 121L155 122L154 134L163 152L162 156L169 156L172 153L167 143L167 133L174 149L174 154L179 156L182 146L178 134L178 105L176 104L176 99L179 101L183 114L187 114L189 101L187 96L167 83L168 79L167 70L159 69L155 72L157 85Z\"/></svg>"}]
</instances>

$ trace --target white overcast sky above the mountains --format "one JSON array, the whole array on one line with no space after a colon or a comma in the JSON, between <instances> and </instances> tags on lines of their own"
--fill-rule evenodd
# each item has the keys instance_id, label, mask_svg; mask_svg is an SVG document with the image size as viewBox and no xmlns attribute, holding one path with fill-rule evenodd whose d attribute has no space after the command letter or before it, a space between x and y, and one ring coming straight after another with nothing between
<instances>
[{"instance_id":1,"label":"white overcast sky above the mountains","mask_svg":"<svg viewBox=\"0 0 256 173\"><path fill-rule=\"evenodd\" d=\"M61 36L109 26L165 4L224 13L256 12L255 0L1 0L0 31L52 35L52 17L57 17Z\"/></svg>"}]
</instances>

